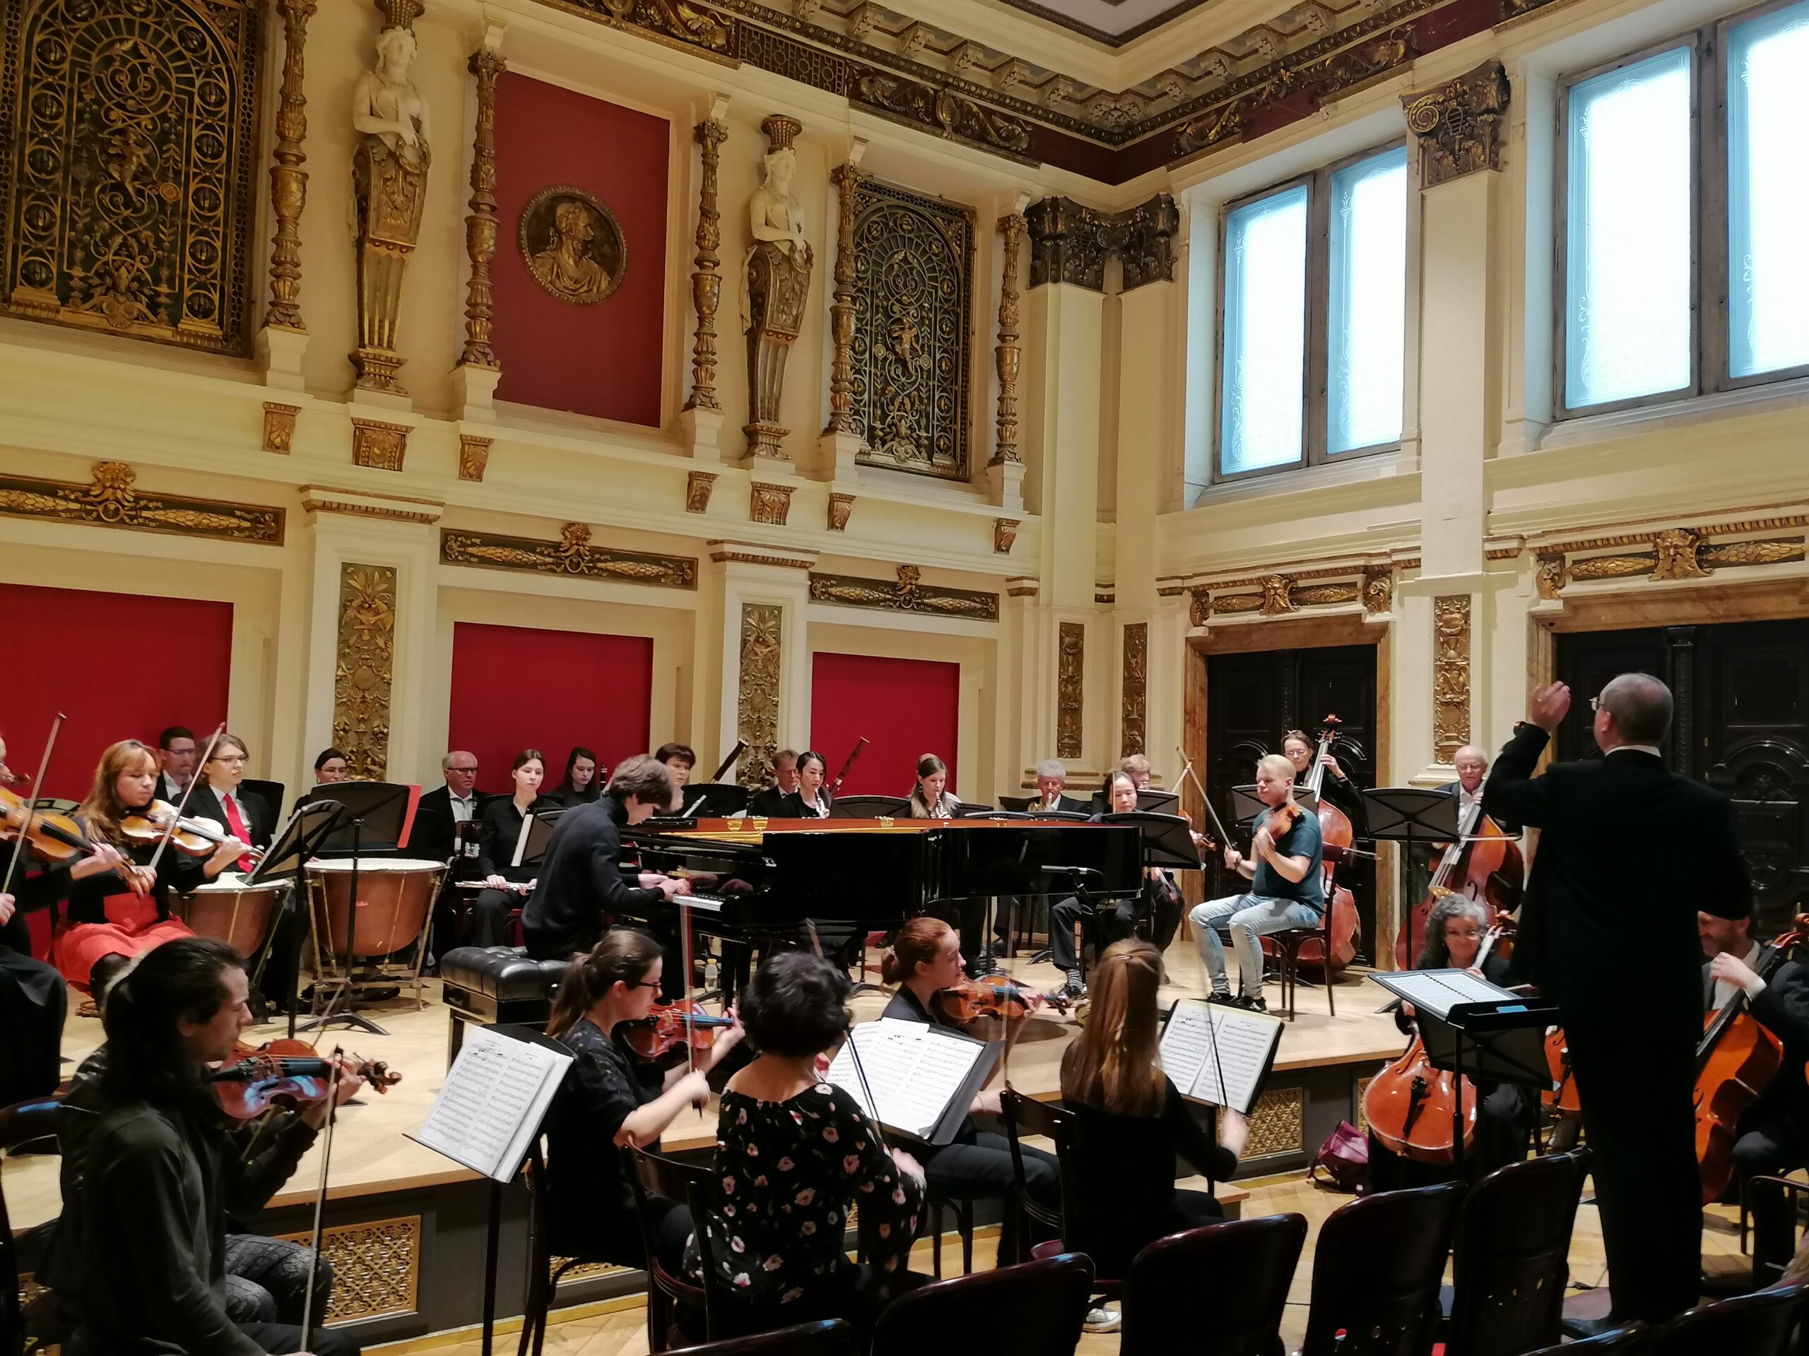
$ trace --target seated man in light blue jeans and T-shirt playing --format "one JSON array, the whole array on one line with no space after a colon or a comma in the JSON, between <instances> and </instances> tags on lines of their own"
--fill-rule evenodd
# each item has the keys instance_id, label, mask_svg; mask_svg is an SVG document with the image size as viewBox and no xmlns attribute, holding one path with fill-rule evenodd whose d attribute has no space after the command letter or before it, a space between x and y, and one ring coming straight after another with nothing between
<instances>
[{"instance_id":1,"label":"seated man in light blue jeans and T-shirt playing","mask_svg":"<svg viewBox=\"0 0 1809 1356\"><path fill-rule=\"evenodd\" d=\"M1207 900L1187 920L1194 924L1199 960L1212 982L1214 1003L1266 1012L1263 1002L1263 947L1255 938L1286 928L1313 928L1326 911L1321 882L1322 852L1319 817L1295 806L1293 824L1272 833L1268 824L1284 805L1293 805L1293 763L1283 754L1268 754L1255 765L1255 794L1268 808L1257 815L1250 855L1225 848L1225 864L1250 880L1250 893ZM1225 978L1225 944L1219 924L1227 924L1237 947L1237 998Z\"/></svg>"}]
</instances>

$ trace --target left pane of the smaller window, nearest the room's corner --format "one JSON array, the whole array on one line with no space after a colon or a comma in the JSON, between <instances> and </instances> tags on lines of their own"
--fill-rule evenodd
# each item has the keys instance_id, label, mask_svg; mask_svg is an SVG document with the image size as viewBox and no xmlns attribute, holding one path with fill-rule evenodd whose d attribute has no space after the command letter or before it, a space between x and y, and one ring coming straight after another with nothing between
<instances>
[{"instance_id":1,"label":"left pane of the smaller window, nearest the room's corner","mask_svg":"<svg viewBox=\"0 0 1809 1356\"><path fill-rule=\"evenodd\" d=\"M1306 398L1306 186L1225 226L1225 474L1301 459Z\"/></svg>"}]
</instances>

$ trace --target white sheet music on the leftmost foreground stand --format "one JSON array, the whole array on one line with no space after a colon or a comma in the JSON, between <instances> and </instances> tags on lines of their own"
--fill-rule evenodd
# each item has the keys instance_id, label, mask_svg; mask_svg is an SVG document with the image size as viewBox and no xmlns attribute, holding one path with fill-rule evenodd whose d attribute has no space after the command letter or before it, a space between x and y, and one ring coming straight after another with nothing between
<instances>
[{"instance_id":1,"label":"white sheet music on the leftmost foreground stand","mask_svg":"<svg viewBox=\"0 0 1809 1356\"><path fill-rule=\"evenodd\" d=\"M541 1128L570 1054L467 1027L458 1059L421 1128L409 1135L472 1172L507 1182Z\"/></svg>"}]
</instances>

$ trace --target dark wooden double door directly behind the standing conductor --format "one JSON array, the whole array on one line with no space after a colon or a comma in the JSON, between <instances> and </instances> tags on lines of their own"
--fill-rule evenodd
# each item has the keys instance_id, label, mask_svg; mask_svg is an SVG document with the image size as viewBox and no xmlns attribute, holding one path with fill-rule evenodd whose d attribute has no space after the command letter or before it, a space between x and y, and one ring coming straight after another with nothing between
<instances>
[{"instance_id":1,"label":"dark wooden double door directly behind the standing conductor","mask_svg":"<svg viewBox=\"0 0 1809 1356\"><path fill-rule=\"evenodd\" d=\"M1670 683L1677 714L1664 761L1733 799L1760 929L1787 931L1809 909L1809 618L1583 631L1556 642L1554 673L1572 692L1558 758L1601 756L1588 700L1615 674Z\"/></svg>"}]
</instances>

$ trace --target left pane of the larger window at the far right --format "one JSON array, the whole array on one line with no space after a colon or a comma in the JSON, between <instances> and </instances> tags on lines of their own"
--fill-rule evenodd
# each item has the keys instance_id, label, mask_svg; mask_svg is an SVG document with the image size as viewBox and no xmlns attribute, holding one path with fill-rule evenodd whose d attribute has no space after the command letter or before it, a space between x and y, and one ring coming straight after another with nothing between
<instances>
[{"instance_id":1,"label":"left pane of the larger window at the far right","mask_svg":"<svg viewBox=\"0 0 1809 1356\"><path fill-rule=\"evenodd\" d=\"M1690 385L1690 49L1574 85L1570 409Z\"/></svg>"}]
</instances>

